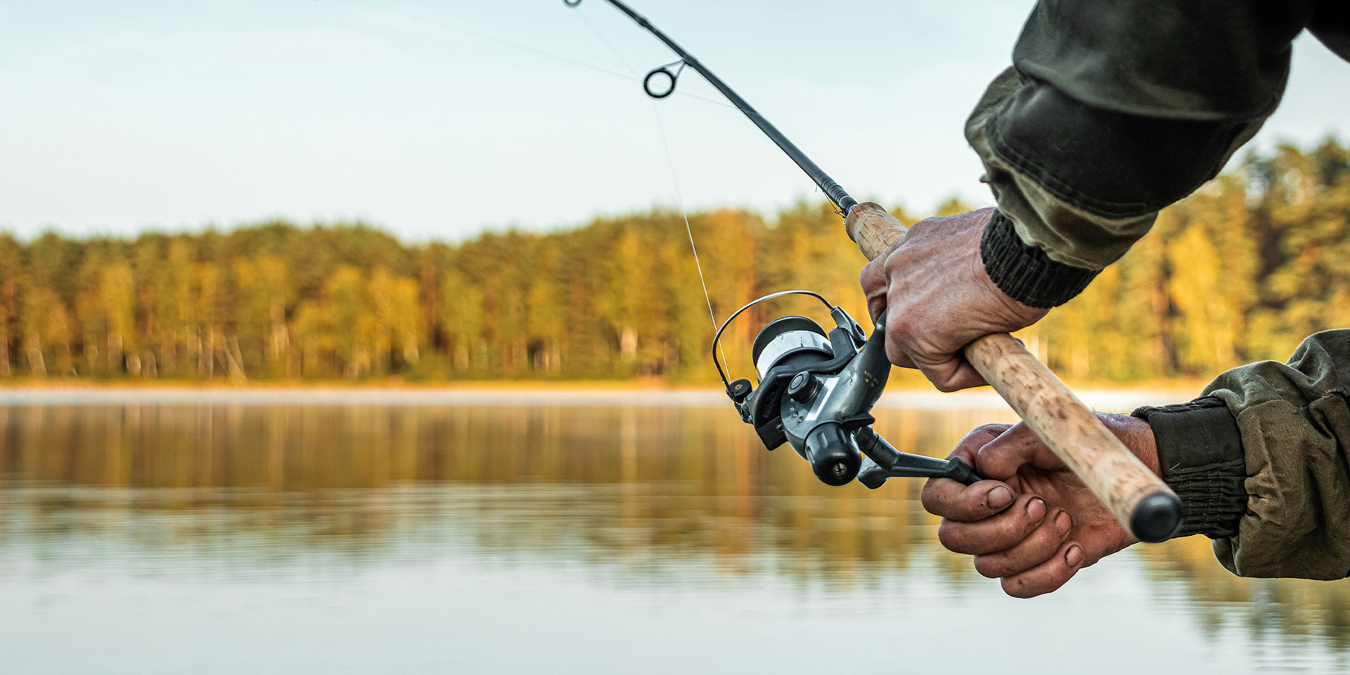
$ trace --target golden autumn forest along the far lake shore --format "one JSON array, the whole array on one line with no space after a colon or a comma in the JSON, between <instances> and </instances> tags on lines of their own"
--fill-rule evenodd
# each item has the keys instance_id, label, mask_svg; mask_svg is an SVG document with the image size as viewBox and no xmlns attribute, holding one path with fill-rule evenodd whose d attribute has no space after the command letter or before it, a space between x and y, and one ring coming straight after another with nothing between
<instances>
[{"instance_id":1,"label":"golden autumn forest along the far lake shore","mask_svg":"<svg viewBox=\"0 0 1350 675\"><path fill-rule=\"evenodd\" d=\"M946 204L940 215L967 209ZM915 220L892 209L906 223ZM690 215L721 320L809 289L865 315L826 204ZM786 300L733 324L732 377ZM716 382L684 220L656 209L547 234L401 243L362 224L32 240L0 235L0 378ZM1350 327L1350 150L1249 157L1019 336L1076 381L1207 377Z\"/></svg>"}]
</instances>

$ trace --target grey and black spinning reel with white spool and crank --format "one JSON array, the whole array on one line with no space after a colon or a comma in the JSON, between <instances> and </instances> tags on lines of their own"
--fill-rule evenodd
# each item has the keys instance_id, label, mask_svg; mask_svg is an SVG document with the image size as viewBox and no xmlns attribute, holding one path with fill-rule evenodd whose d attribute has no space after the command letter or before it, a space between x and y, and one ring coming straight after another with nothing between
<instances>
[{"instance_id":1,"label":"grey and black spinning reel with white spool and crank","mask_svg":"<svg viewBox=\"0 0 1350 675\"><path fill-rule=\"evenodd\" d=\"M805 316L770 321L755 338L751 352L759 389L749 379L728 382L717 358L722 332L747 309L783 296L819 300L836 327L826 333ZM764 446L774 450L788 443L826 485L848 485L857 478L875 490L887 478L898 477L952 478L967 485L979 481L975 470L960 459L900 452L872 431L876 418L869 412L891 374L884 327L883 312L867 338L848 312L818 293L771 293L737 309L717 329L713 363L741 420L755 427Z\"/></svg>"}]
</instances>

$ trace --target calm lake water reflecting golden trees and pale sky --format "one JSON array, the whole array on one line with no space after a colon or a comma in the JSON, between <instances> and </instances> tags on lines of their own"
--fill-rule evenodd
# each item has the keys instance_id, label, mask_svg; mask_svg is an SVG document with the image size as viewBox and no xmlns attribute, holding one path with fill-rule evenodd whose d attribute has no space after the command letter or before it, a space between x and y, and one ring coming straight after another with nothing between
<instances>
[{"instance_id":1,"label":"calm lake water reflecting golden trees and pale sky","mask_svg":"<svg viewBox=\"0 0 1350 675\"><path fill-rule=\"evenodd\" d=\"M1011 414L933 401L878 431ZM1010 599L921 485L703 394L0 393L0 672L1350 672L1347 583L1192 537Z\"/></svg>"}]
</instances>

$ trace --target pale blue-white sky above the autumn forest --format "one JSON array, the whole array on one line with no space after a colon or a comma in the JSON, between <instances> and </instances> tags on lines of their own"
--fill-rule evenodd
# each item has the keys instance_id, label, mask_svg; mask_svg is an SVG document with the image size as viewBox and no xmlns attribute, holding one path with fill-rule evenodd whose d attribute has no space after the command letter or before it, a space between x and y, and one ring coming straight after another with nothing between
<instances>
[{"instance_id":1,"label":"pale blue-white sky above the autumn forest","mask_svg":"<svg viewBox=\"0 0 1350 675\"><path fill-rule=\"evenodd\" d=\"M632 4L856 197L990 201L961 126L1030 0ZM603 0L0 0L0 230L579 224L676 204L657 109L690 209L819 198L697 73L655 104L626 76L674 58ZM1346 111L1303 36L1256 144L1350 140Z\"/></svg>"}]
</instances>

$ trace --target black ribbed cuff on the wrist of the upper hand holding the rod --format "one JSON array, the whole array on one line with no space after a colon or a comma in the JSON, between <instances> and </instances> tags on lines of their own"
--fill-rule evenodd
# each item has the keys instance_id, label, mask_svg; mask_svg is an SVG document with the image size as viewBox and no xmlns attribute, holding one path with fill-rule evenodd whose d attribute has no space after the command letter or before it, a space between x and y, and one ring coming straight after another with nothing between
<instances>
[{"instance_id":1,"label":"black ribbed cuff on the wrist of the upper hand holding the rod","mask_svg":"<svg viewBox=\"0 0 1350 675\"><path fill-rule=\"evenodd\" d=\"M1087 270L1052 261L1045 251L1027 246L1013 220L995 211L980 240L984 271L1008 297L1026 306L1050 309L1083 293L1102 270Z\"/></svg>"}]
</instances>

